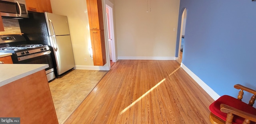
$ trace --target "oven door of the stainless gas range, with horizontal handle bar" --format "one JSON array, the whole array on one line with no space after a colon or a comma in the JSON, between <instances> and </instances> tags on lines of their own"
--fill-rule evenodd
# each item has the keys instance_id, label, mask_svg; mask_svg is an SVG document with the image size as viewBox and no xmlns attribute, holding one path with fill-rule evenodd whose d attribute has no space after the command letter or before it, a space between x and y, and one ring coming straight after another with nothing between
<instances>
[{"instance_id":1,"label":"oven door of the stainless gas range, with horizontal handle bar","mask_svg":"<svg viewBox=\"0 0 256 124\"><path fill-rule=\"evenodd\" d=\"M18 64L48 64L49 67L45 70L50 70L53 68L51 51L18 57Z\"/></svg>"}]
</instances>

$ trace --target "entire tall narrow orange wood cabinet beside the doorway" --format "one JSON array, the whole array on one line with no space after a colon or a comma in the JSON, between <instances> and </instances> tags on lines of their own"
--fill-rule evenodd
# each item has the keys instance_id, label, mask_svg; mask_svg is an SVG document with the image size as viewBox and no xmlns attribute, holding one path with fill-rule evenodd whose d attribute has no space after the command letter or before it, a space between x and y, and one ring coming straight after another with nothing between
<instances>
[{"instance_id":1,"label":"entire tall narrow orange wood cabinet beside the doorway","mask_svg":"<svg viewBox=\"0 0 256 124\"><path fill-rule=\"evenodd\" d=\"M106 48L102 0L86 0L86 3L92 43L93 63L97 66L103 66L106 64Z\"/></svg>"}]
</instances>

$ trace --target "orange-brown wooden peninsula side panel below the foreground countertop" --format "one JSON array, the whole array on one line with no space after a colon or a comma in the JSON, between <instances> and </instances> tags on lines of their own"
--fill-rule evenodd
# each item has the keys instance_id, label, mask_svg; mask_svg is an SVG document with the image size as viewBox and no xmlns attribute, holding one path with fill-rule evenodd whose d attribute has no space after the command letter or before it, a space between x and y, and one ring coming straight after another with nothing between
<instances>
[{"instance_id":1,"label":"orange-brown wooden peninsula side panel below the foreground countertop","mask_svg":"<svg viewBox=\"0 0 256 124\"><path fill-rule=\"evenodd\" d=\"M0 117L20 124L58 124L45 70L0 87Z\"/></svg>"}]
</instances>

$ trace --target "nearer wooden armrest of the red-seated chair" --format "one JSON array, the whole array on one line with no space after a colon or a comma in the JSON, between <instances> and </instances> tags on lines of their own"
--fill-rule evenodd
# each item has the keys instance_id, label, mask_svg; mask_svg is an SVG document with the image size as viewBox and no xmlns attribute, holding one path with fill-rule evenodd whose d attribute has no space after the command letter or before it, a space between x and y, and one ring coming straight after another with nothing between
<instances>
[{"instance_id":1,"label":"nearer wooden armrest of the red-seated chair","mask_svg":"<svg viewBox=\"0 0 256 124\"><path fill-rule=\"evenodd\" d=\"M232 113L242 118L246 118L248 120L256 122L256 115L241 111L226 104L220 104L220 110L224 113Z\"/></svg>"}]
</instances>

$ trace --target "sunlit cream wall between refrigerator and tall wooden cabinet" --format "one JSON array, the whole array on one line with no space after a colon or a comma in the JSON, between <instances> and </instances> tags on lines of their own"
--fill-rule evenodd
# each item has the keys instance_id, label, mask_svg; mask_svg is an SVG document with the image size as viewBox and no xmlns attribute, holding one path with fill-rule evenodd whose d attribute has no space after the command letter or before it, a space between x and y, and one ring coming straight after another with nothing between
<instances>
[{"instance_id":1,"label":"sunlit cream wall between refrigerator and tall wooden cabinet","mask_svg":"<svg viewBox=\"0 0 256 124\"><path fill-rule=\"evenodd\" d=\"M68 16L76 65L93 65L86 0L51 0L52 12ZM84 61L87 58L87 62Z\"/></svg>"}]
</instances>

